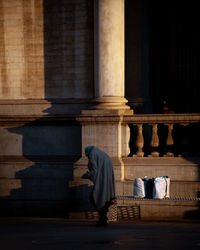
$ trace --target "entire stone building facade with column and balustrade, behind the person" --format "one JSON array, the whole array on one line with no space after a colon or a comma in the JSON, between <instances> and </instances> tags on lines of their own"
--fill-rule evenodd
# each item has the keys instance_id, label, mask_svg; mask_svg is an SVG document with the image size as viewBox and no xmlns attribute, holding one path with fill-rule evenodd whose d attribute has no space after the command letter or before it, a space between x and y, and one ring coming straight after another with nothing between
<instances>
[{"instance_id":1,"label":"entire stone building facade with column and balustrade, behind the person","mask_svg":"<svg viewBox=\"0 0 200 250\"><path fill-rule=\"evenodd\" d=\"M118 196L168 175L172 198L193 199L134 201L142 217L198 211L195 5L0 0L1 216L87 210L86 145L111 156Z\"/></svg>"}]
</instances>

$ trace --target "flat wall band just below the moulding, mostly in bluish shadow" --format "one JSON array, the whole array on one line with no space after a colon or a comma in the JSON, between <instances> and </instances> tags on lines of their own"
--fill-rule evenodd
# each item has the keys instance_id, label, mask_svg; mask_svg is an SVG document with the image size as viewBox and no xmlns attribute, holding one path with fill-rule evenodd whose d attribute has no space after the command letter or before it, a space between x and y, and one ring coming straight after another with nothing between
<instances>
[{"instance_id":1,"label":"flat wall band just below the moulding, mostly in bluish shadow","mask_svg":"<svg viewBox=\"0 0 200 250\"><path fill-rule=\"evenodd\" d=\"M38 126L39 122L40 120L36 120L26 126L1 127L0 155L80 154L78 126L66 126L66 124Z\"/></svg>"}]
</instances>

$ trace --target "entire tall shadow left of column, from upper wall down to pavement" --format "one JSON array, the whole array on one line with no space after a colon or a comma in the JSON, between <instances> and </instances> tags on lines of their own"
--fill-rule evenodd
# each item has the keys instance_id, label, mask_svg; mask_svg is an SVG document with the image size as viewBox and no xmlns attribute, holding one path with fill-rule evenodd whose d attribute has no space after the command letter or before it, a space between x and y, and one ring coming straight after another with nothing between
<instances>
[{"instance_id":1,"label":"entire tall shadow left of column, from upper wall down to pavement","mask_svg":"<svg viewBox=\"0 0 200 250\"><path fill-rule=\"evenodd\" d=\"M12 144L11 138L6 145L17 152L22 147L22 152L6 162L9 173L0 197L1 215L67 216L73 164L81 155L81 126L75 115L85 105L76 98L93 95L92 4L43 1L44 91L51 107L43 111L44 118L5 128L9 138L18 140Z\"/></svg>"}]
</instances>

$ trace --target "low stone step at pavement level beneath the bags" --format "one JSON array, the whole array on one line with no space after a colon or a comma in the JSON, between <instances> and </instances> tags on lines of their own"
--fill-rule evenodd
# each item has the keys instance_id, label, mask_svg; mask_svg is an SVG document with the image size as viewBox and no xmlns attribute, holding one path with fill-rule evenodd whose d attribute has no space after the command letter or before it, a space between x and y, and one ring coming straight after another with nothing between
<instances>
[{"instance_id":1,"label":"low stone step at pavement level beneath the bags","mask_svg":"<svg viewBox=\"0 0 200 250\"><path fill-rule=\"evenodd\" d=\"M157 201L137 200L130 204L119 204L117 201L116 212L110 209L112 220L182 220L200 219L199 201ZM113 212L115 218L113 218ZM97 220L95 211L70 212L70 219Z\"/></svg>"}]
</instances>

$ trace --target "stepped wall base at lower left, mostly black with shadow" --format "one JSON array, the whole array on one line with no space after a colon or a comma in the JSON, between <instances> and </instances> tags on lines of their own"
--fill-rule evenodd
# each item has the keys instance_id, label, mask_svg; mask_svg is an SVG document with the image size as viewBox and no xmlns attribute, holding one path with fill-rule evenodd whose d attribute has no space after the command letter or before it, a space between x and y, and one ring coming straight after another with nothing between
<instances>
[{"instance_id":1,"label":"stepped wall base at lower left, mostly black with shadow","mask_svg":"<svg viewBox=\"0 0 200 250\"><path fill-rule=\"evenodd\" d=\"M70 157L1 157L1 216L67 216L69 182L73 178Z\"/></svg>"}]
</instances>

